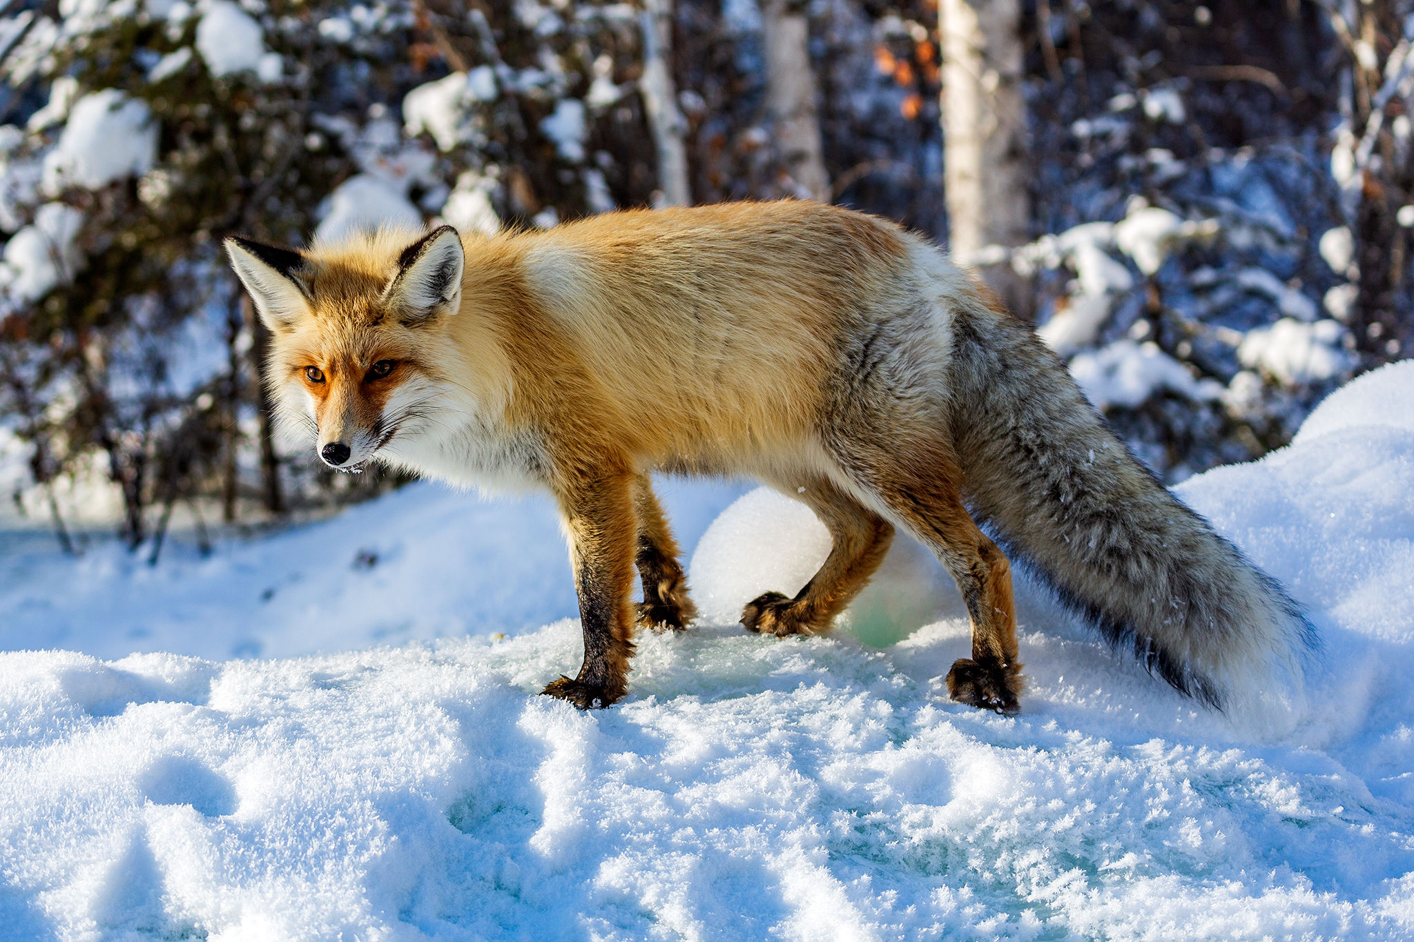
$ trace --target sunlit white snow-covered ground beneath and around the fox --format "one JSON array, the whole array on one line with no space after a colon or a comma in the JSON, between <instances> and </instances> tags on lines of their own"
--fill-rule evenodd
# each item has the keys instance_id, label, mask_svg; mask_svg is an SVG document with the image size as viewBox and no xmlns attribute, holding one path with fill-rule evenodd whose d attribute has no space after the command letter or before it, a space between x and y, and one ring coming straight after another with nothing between
<instances>
[{"instance_id":1,"label":"sunlit white snow-covered ground beneath and around the fox","mask_svg":"<svg viewBox=\"0 0 1414 942\"><path fill-rule=\"evenodd\" d=\"M1258 717L1025 588L1022 713L947 702L967 626L906 541L834 637L748 636L826 544L741 490L665 486L708 617L592 713L534 693L580 658L543 501L414 486L208 559L0 556L0 935L1414 934L1414 363L1178 489L1325 638Z\"/></svg>"}]
</instances>

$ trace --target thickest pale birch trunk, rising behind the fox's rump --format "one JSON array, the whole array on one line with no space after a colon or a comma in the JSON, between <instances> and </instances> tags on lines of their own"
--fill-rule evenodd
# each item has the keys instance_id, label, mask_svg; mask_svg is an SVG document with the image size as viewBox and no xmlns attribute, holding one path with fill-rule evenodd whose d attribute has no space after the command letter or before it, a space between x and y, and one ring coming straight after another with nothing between
<instances>
[{"instance_id":1,"label":"thickest pale birch trunk, rising behind the fox's rump","mask_svg":"<svg viewBox=\"0 0 1414 942\"><path fill-rule=\"evenodd\" d=\"M978 261L987 246L1029 236L1019 0L942 0L943 161L953 256ZM1025 282L1005 264L983 277L1021 316Z\"/></svg>"}]
</instances>

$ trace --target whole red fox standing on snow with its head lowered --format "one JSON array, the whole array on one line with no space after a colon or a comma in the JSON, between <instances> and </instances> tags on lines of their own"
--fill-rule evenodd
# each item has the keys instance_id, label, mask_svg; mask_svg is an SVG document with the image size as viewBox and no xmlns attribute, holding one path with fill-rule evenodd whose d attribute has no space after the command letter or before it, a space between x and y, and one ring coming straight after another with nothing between
<instances>
[{"instance_id":1,"label":"whole red fox standing on snow with its head lowered","mask_svg":"<svg viewBox=\"0 0 1414 942\"><path fill-rule=\"evenodd\" d=\"M580 708L624 696L636 627L694 616L650 472L752 476L829 528L795 597L747 603L751 631L829 630L895 527L916 537L971 620L949 693L1000 713L1022 688L1011 571L978 524L1213 706L1261 669L1299 672L1315 644L1281 586L1134 459L1027 325L889 222L786 201L226 249L273 335L277 414L325 463L554 496L584 664L544 692Z\"/></svg>"}]
</instances>

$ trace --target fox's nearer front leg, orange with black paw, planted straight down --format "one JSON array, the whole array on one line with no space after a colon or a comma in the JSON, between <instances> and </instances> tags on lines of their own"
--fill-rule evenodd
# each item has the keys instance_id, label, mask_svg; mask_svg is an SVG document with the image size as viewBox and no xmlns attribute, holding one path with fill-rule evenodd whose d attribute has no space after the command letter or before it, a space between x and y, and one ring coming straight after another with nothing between
<instances>
[{"instance_id":1,"label":"fox's nearer front leg, orange with black paw, planted straight down","mask_svg":"<svg viewBox=\"0 0 1414 942\"><path fill-rule=\"evenodd\" d=\"M600 472L568 483L559 494L580 596L584 664L574 679L561 676L543 692L580 709L608 706L628 686L633 657L629 590L638 538L632 482L631 473Z\"/></svg>"}]
</instances>

